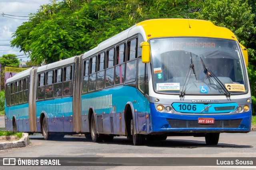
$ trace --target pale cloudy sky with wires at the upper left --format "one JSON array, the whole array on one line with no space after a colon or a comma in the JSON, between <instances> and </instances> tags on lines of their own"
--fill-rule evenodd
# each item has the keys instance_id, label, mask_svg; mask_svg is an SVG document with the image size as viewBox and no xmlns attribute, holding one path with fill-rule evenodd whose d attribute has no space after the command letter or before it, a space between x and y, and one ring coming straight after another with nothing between
<instances>
[{"instance_id":1,"label":"pale cloudy sky with wires at the upper left","mask_svg":"<svg viewBox=\"0 0 256 170\"><path fill-rule=\"evenodd\" d=\"M0 0L0 57L6 54L15 54L18 59L23 61L30 60L23 52L19 52L20 49L10 47L10 41L13 40L12 34L18 26L28 21L26 20L28 17L18 16L28 16L29 14L36 13L40 9L40 5L49 3L50 0ZM8 18L3 14L13 16L8 16L11 17Z\"/></svg>"}]
</instances>

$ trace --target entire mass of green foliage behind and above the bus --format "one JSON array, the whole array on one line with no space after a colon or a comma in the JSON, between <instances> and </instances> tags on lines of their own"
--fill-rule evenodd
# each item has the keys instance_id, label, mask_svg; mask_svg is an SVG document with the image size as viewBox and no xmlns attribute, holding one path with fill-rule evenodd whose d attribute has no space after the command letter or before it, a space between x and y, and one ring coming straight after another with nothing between
<instances>
[{"instance_id":1,"label":"entire mass of green foliage behind and above the bus","mask_svg":"<svg viewBox=\"0 0 256 170\"><path fill-rule=\"evenodd\" d=\"M52 63L80 55L143 20L197 18L230 29L248 48L248 75L256 111L255 0L63 0L41 6L14 33L11 44L32 61Z\"/></svg>"}]
</instances>

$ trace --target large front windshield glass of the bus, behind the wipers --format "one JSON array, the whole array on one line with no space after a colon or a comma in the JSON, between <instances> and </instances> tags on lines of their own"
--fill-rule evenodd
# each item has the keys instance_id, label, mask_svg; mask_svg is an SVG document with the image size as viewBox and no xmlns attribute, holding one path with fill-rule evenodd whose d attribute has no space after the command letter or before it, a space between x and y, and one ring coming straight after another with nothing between
<instances>
[{"instance_id":1,"label":"large front windshield glass of the bus, behind the wipers","mask_svg":"<svg viewBox=\"0 0 256 170\"><path fill-rule=\"evenodd\" d=\"M186 86L183 88L186 95L224 94L225 88L230 94L247 91L236 41L159 38L150 40L150 49L154 89L158 93L180 93L183 86Z\"/></svg>"}]
</instances>

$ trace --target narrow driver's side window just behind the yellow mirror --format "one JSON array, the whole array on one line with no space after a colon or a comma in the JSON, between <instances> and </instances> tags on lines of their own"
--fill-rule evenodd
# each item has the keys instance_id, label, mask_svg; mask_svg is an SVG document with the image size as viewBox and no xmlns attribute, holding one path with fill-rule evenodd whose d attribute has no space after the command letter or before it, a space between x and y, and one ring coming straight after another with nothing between
<instances>
[{"instance_id":1,"label":"narrow driver's side window just behind the yellow mirror","mask_svg":"<svg viewBox=\"0 0 256 170\"><path fill-rule=\"evenodd\" d=\"M144 94L145 90L145 63L142 63L141 58L138 59L138 90Z\"/></svg>"}]
</instances>

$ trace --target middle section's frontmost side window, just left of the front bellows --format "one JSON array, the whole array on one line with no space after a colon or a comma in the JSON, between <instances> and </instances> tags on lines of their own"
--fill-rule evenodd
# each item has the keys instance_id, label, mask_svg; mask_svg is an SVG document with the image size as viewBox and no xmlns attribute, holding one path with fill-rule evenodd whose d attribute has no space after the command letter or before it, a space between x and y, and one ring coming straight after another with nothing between
<instances>
[{"instance_id":1,"label":"middle section's frontmost side window, just left of the front bellows","mask_svg":"<svg viewBox=\"0 0 256 170\"><path fill-rule=\"evenodd\" d=\"M72 66L64 67L63 96L71 95Z\"/></svg>"}]
</instances>

